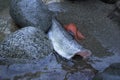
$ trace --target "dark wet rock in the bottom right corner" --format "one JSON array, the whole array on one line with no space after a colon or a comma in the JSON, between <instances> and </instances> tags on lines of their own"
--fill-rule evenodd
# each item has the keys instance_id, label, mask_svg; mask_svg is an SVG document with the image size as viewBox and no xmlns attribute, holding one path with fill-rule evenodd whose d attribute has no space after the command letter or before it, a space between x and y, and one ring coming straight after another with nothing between
<instances>
[{"instance_id":1,"label":"dark wet rock in the bottom right corner","mask_svg":"<svg viewBox=\"0 0 120 80\"><path fill-rule=\"evenodd\" d=\"M111 64L104 72L97 74L93 80L120 80L120 63Z\"/></svg>"}]
</instances>

